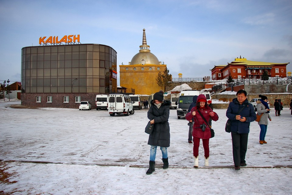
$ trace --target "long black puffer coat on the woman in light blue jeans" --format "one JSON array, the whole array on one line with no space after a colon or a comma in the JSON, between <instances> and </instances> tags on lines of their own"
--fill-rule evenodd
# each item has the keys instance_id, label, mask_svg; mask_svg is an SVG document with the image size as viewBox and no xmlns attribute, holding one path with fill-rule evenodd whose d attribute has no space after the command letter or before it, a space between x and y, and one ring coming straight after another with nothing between
<instances>
[{"instance_id":1,"label":"long black puffer coat on the woman in light blue jeans","mask_svg":"<svg viewBox=\"0 0 292 195\"><path fill-rule=\"evenodd\" d=\"M170 133L168 118L171 102L164 100L159 109L154 105L154 100L151 100L150 104L147 117L149 120L154 119L154 129L152 134L149 135L148 145L169 147Z\"/></svg>"}]
</instances>

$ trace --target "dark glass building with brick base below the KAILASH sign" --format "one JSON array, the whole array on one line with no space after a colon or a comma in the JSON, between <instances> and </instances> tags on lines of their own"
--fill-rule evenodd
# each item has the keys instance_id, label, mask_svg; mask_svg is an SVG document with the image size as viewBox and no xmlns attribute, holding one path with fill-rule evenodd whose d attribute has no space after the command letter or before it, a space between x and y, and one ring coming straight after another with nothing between
<instances>
[{"instance_id":1,"label":"dark glass building with brick base below the KAILASH sign","mask_svg":"<svg viewBox=\"0 0 292 195\"><path fill-rule=\"evenodd\" d=\"M93 108L95 98L86 100L88 94L116 92L116 51L107 45L24 47L21 64L22 105L77 108L81 99L92 101ZM73 106L54 106L54 99L60 98L63 103L74 102Z\"/></svg>"}]
</instances>

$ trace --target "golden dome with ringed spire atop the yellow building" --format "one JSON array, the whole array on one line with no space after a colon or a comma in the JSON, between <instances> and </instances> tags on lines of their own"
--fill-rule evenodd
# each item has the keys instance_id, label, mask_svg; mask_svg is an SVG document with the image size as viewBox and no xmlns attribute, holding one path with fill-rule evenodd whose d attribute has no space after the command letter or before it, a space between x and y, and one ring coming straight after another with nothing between
<instances>
[{"instance_id":1,"label":"golden dome with ringed spire atop the yellow building","mask_svg":"<svg viewBox=\"0 0 292 195\"><path fill-rule=\"evenodd\" d=\"M145 34L145 29L143 29L143 41L142 45L140 45L140 51L134 57L132 58L130 65L135 65L135 64L154 64L154 65L159 65L159 60L158 58L152 54L149 50L150 46L147 45L146 42L146 34Z\"/></svg>"}]
</instances>

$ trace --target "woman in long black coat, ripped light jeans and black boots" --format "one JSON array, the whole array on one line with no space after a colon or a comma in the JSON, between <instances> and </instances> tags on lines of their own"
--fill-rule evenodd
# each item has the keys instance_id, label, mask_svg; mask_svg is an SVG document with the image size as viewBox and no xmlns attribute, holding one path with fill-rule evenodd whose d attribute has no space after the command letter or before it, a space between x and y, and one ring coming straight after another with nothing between
<instances>
[{"instance_id":1,"label":"woman in long black coat, ripped light jeans and black boots","mask_svg":"<svg viewBox=\"0 0 292 195\"><path fill-rule=\"evenodd\" d=\"M151 100L150 108L147 112L147 117L151 124L154 124L153 132L149 135L148 145L151 145L150 148L150 161L149 169L146 174L149 175L155 171L155 157L157 146L160 146L162 151L162 161L163 168L168 168L168 156L167 156L167 147L170 144L170 131L169 131L169 106L171 105L170 101L163 99L164 92L160 90L155 93L153 100Z\"/></svg>"}]
</instances>

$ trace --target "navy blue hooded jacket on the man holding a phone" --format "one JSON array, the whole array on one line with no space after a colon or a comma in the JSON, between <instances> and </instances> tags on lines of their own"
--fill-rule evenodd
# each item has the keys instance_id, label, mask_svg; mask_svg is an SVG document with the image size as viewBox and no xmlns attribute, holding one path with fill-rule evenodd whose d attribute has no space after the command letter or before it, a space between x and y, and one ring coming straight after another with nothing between
<instances>
[{"instance_id":1,"label":"navy blue hooded jacket on the man holding a phone","mask_svg":"<svg viewBox=\"0 0 292 195\"><path fill-rule=\"evenodd\" d=\"M245 106L247 105L247 106ZM238 113L238 111L243 108L243 110ZM238 113L238 114L237 114ZM241 122L235 119L236 115L241 115L242 117L246 118L245 122ZM236 133L249 133L249 125L250 122L255 121L256 114L255 109L253 108L252 104L249 103L247 99L240 104L237 98L234 98L228 105L226 116L228 119L231 120L231 131Z\"/></svg>"}]
</instances>

